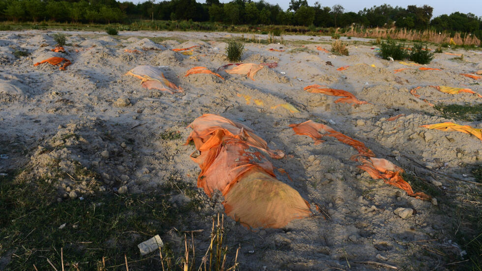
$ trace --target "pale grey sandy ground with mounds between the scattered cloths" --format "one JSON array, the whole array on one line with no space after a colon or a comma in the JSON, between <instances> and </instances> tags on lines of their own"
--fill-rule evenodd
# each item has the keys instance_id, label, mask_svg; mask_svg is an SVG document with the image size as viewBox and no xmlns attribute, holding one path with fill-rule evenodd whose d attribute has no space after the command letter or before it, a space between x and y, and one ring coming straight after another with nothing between
<instances>
[{"instance_id":1,"label":"pale grey sandy ground with mounds between the scattered cloths","mask_svg":"<svg viewBox=\"0 0 482 271\"><path fill-rule=\"evenodd\" d=\"M278 179L295 187L308 202L322 206L328 214L294 221L284 229L254 232L228 219L227 242L233 246L241 243L242 270L348 269L347 261L350 270L384 270L357 263L364 261L405 270L431 270L451 259L427 251L424 245L450 253L455 260L463 254L447 234L451 222L441 211L443 205L409 197L383 181L372 180L356 167L357 162L350 160L357 153L353 148L334 138L314 145L306 136L293 135L288 125L309 119L326 123L365 143L377 157L408 172L432 176L427 180L436 189L457 190L467 185L463 181L474 180L466 165L482 160L481 141L471 135L427 130L420 125L453 121L482 128L482 123L437 117L437 111L409 90L424 87L417 93L432 102L481 102L482 98L475 94L451 95L427 87L467 86L482 94L482 87L475 84L480 80L459 75L482 69L480 53L458 52L466 61L436 54L427 67L440 71L411 67L394 74L393 70L409 66L382 60L370 49L373 46L352 43L348 48L350 56L335 56L316 50L316 46L330 50L331 46L323 43L329 37L284 36L287 41L320 44L302 47L247 43L242 62L277 62L278 66L263 68L254 76L255 81L220 70L226 79L223 81L212 75L184 74L194 66L216 70L229 63L224 56L226 43L220 39L239 34L136 31L121 32L116 37L100 32L65 32L67 43L72 45L65 46L67 53L62 54L50 51L55 45L52 33L0 32L0 152L8 155L8 159L0 159L0 172L28 165L33 177L45 176L51 174L49 163L56 160L62 169L80 166L102 177L103 185L96 189L91 189L88 182L73 183L68 178L51 180L64 200L71 191L77 197L88 197L98 190L118 192L121 187L122 192L127 188L127 193L142 193L155 190L166 180L192 185L199 168L189 158L193 146L184 145L190 133L186 126L202 114L219 114L253 128L271 149L285 151L285 158L271 160L293 181L276 171ZM171 40L153 43L143 39L154 36ZM180 44L177 40L189 41ZM201 46L193 56L169 50L193 45ZM269 51L281 47L286 52ZM16 49L31 55L16 59ZM142 53L126 53L124 49ZM33 66L53 56L67 58L72 64L66 71L50 64ZM124 76L137 65L160 66L166 78L184 92L143 89L138 79ZM350 67L336 70L346 65ZM347 90L369 103L334 103L337 97L303 90L312 84ZM263 105L247 102L244 95L262 100ZM129 102L116 103L118 98L128 98ZM300 112L271 109L282 103L290 103ZM399 114L405 116L386 121ZM179 132L181 138L160 137L169 132ZM193 224L186 227L208 229L211 215L222 210L221 199L209 200L202 191L196 197L206 204L193 214ZM173 200L183 204L190 199L181 194ZM413 209L415 214L403 219L394 213L399 207ZM162 238L179 241L167 234ZM417 242L434 239L437 241Z\"/></svg>"}]
</instances>

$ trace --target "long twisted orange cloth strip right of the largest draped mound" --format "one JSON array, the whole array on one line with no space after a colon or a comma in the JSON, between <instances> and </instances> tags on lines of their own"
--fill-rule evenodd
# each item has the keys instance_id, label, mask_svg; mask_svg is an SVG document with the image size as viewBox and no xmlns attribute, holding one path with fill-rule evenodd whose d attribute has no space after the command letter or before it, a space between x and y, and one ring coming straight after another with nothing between
<instances>
[{"instance_id":1,"label":"long twisted orange cloth strip right of the largest draped mound","mask_svg":"<svg viewBox=\"0 0 482 271\"><path fill-rule=\"evenodd\" d=\"M375 154L373 151L366 148L360 141L346 136L328 125L312 120L307 120L299 124L290 124L289 126L293 128L295 134L307 135L313 138L315 145L323 142L321 140L322 137L330 136L344 144L352 146L359 153L358 155L352 156L352 159L361 160L362 165L358 167L366 171L373 179L383 179L386 183L405 190L409 196L423 200L430 199L430 197L423 192L413 192L410 184L400 176L400 174L403 173L403 169L386 159L374 158Z\"/></svg>"}]
</instances>

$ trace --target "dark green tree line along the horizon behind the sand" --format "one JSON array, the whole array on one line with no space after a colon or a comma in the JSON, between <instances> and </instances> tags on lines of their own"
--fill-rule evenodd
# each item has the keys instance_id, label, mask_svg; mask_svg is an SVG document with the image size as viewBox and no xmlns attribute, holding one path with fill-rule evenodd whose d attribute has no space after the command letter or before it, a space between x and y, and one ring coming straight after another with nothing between
<instances>
[{"instance_id":1,"label":"dark green tree line along the horizon behind the sand","mask_svg":"<svg viewBox=\"0 0 482 271\"><path fill-rule=\"evenodd\" d=\"M307 27L398 27L424 30L452 30L480 34L482 17L455 12L432 19L433 8L409 5L406 8L388 4L364 8L358 13L344 12L341 5L322 6L307 0L291 0L283 10L278 4L263 0L147 0L134 4L116 0L0 0L0 20L73 23L130 23L133 20L192 20L247 25L293 25Z\"/></svg>"}]
</instances>

